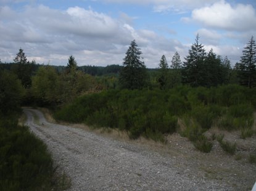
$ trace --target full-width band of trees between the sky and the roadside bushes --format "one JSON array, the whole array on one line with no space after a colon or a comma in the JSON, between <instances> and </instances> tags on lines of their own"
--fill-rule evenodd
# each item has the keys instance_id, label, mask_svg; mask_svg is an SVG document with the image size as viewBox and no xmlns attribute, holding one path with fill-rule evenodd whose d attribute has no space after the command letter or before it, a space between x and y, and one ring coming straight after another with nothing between
<instances>
[{"instance_id":1,"label":"full-width band of trees between the sky and the roadside bushes","mask_svg":"<svg viewBox=\"0 0 256 191\"><path fill-rule=\"evenodd\" d=\"M23 96L23 98L25 97L23 104L33 102L39 105L52 106L72 101L76 96L86 92L99 92L111 88L128 88L131 90L160 88L167 90L178 85L207 88L223 84L240 84L249 88L256 85L254 37L251 37L242 51L240 62L236 63L234 68L231 68L227 57L222 58L212 49L207 53L204 45L199 42L198 34L183 63L179 53L175 52L170 66L163 55L160 58L159 68L147 69L141 55L141 49L138 48L134 40L126 51L123 66L78 67L73 55L70 55L67 66L49 66L36 64L35 60L28 61L25 53L20 49L14 58L14 63L1 63L0 70L4 73L9 70L15 75L15 77L10 75L12 79L20 80L19 83L25 90L21 91L23 92L22 95L25 95ZM7 71L4 71L5 69ZM2 78L5 76L8 75L3 74ZM6 80L2 79L2 83L5 83ZM11 86L9 85L9 88ZM2 89L4 87L6 86L2 85ZM6 96L6 99L11 100L11 97ZM1 102L4 104L5 101Z\"/></svg>"}]
</instances>

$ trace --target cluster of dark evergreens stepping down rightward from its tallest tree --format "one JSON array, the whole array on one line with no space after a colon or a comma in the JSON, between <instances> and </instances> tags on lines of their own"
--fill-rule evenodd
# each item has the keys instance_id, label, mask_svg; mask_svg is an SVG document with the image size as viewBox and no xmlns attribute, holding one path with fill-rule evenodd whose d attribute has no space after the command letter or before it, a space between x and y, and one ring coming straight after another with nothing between
<instances>
[{"instance_id":1,"label":"cluster of dark evergreens stepping down rightward from its tallest tree","mask_svg":"<svg viewBox=\"0 0 256 191\"><path fill-rule=\"evenodd\" d=\"M222 60L213 50L205 53L204 45L199 44L199 35L192 44L183 65L183 83L192 87L217 87L230 79L230 63Z\"/></svg>"}]
</instances>

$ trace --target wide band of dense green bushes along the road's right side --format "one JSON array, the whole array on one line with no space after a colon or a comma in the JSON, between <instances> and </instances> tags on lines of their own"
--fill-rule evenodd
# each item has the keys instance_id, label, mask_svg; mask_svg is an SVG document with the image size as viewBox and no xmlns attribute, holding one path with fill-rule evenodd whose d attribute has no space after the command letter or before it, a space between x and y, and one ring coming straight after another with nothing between
<instances>
[{"instance_id":1,"label":"wide band of dense green bushes along the road's right side","mask_svg":"<svg viewBox=\"0 0 256 191\"><path fill-rule=\"evenodd\" d=\"M178 118L184 119L186 115L191 124L186 124L181 133L194 142L213 125L226 130L250 128L254 122L254 95L250 93L254 92L239 85L109 90L81 96L56 111L55 117L67 122L118 128L128 131L130 138L142 135L161 141L163 134L177 130ZM200 144L210 148L204 138L196 145Z\"/></svg>"}]
</instances>

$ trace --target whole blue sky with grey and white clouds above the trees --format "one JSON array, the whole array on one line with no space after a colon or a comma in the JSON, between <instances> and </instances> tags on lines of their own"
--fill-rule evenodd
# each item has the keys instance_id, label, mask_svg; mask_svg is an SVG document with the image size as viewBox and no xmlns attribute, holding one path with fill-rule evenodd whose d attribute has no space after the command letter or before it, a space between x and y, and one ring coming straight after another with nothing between
<instances>
[{"instance_id":1,"label":"whole blue sky with grey and white clouds above the trees","mask_svg":"<svg viewBox=\"0 0 256 191\"><path fill-rule=\"evenodd\" d=\"M0 59L79 66L122 64L133 39L148 68L183 60L199 33L208 51L239 61L256 36L255 0L0 0Z\"/></svg>"}]
</instances>

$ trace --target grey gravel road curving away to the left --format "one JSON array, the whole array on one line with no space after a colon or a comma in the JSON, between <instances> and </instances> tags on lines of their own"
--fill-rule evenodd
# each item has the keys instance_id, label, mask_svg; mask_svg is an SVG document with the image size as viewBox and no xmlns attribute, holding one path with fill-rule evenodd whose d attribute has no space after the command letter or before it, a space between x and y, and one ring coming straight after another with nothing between
<instances>
[{"instance_id":1,"label":"grey gravel road curving away to the left","mask_svg":"<svg viewBox=\"0 0 256 191\"><path fill-rule=\"evenodd\" d=\"M214 172L220 164L207 163L211 155L194 150L183 152L183 147L176 143L167 148L173 151L156 152L147 146L49 123L36 109L24 112L31 131L46 142L56 165L72 179L70 190L248 190L256 178L255 165L242 166L237 162L231 166L241 166L249 180L242 177L244 174L234 175L229 170L219 177ZM202 162L198 161L199 154ZM226 168L225 163L221 166ZM247 171L249 167L252 170ZM230 181L226 180L228 176Z\"/></svg>"}]
</instances>

